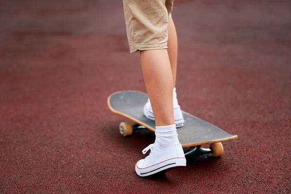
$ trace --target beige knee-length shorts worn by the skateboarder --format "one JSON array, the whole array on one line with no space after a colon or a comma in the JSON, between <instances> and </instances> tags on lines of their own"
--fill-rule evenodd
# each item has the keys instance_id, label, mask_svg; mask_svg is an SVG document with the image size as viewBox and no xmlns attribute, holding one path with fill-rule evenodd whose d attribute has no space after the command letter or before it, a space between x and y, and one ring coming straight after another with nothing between
<instances>
[{"instance_id":1,"label":"beige knee-length shorts worn by the skateboarder","mask_svg":"<svg viewBox=\"0 0 291 194\"><path fill-rule=\"evenodd\" d=\"M123 0L130 52L166 49L174 0Z\"/></svg>"}]
</instances>

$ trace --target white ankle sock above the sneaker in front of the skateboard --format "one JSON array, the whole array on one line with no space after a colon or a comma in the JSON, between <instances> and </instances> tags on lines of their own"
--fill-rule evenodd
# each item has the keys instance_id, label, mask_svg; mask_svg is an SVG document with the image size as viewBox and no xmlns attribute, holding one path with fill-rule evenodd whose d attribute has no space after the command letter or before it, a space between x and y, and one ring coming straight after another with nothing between
<instances>
[{"instance_id":1,"label":"white ankle sock above the sneaker in front of the skateboard","mask_svg":"<svg viewBox=\"0 0 291 194\"><path fill-rule=\"evenodd\" d=\"M175 124L156 127L155 135L156 135L155 145L160 150L166 149L169 146L179 143L178 133Z\"/></svg>"}]
</instances>

